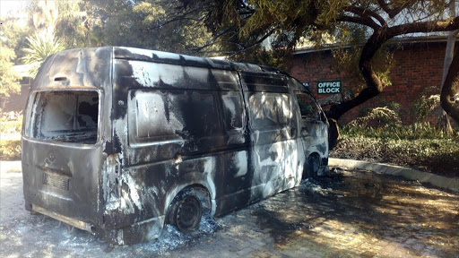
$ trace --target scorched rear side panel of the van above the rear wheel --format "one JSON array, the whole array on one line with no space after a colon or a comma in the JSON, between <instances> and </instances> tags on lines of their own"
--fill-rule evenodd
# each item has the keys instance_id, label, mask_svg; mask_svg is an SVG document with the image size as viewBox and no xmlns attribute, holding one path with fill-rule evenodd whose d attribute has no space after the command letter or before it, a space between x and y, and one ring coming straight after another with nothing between
<instances>
[{"instance_id":1,"label":"scorched rear side panel of the van above the rear wheel","mask_svg":"<svg viewBox=\"0 0 459 258\"><path fill-rule=\"evenodd\" d=\"M243 179L247 119L237 73L117 60L115 78L114 135L121 174L139 193L140 219L162 215L181 187L194 184L208 188L217 213L230 211L234 203L222 200L249 182Z\"/></svg>"}]
</instances>

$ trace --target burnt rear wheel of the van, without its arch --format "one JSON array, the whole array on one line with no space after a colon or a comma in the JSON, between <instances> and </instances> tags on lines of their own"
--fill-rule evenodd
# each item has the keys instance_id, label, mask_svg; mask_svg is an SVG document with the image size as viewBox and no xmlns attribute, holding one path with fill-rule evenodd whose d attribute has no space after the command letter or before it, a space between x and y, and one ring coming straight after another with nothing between
<instances>
[{"instance_id":1,"label":"burnt rear wheel of the van, without its arch","mask_svg":"<svg viewBox=\"0 0 459 258\"><path fill-rule=\"evenodd\" d=\"M175 207L176 211L172 220L178 230L187 233L199 228L203 207L194 194L185 193Z\"/></svg>"}]
</instances>

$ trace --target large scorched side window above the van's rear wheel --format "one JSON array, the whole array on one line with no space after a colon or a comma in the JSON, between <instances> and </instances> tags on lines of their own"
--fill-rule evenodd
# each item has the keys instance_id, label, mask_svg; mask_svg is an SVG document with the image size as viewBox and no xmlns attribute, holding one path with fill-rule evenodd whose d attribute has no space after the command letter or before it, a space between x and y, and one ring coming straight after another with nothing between
<instances>
[{"instance_id":1,"label":"large scorched side window above the van's rear wheel","mask_svg":"<svg viewBox=\"0 0 459 258\"><path fill-rule=\"evenodd\" d=\"M215 98L210 91L135 90L128 108L134 119L134 142L205 137L220 129ZM134 110L133 110L134 109Z\"/></svg>"}]
</instances>

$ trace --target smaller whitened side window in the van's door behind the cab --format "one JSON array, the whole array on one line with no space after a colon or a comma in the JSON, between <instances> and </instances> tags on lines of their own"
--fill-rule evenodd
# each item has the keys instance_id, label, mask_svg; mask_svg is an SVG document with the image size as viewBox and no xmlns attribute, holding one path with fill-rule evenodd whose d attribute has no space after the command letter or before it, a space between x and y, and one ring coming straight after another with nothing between
<instances>
[{"instance_id":1,"label":"smaller whitened side window in the van's door behind the cab","mask_svg":"<svg viewBox=\"0 0 459 258\"><path fill-rule=\"evenodd\" d=\"M248 102L252 127L255 130L287 125L292 116L288 94L255 92Z\"/></svg>"}]
</instances>

